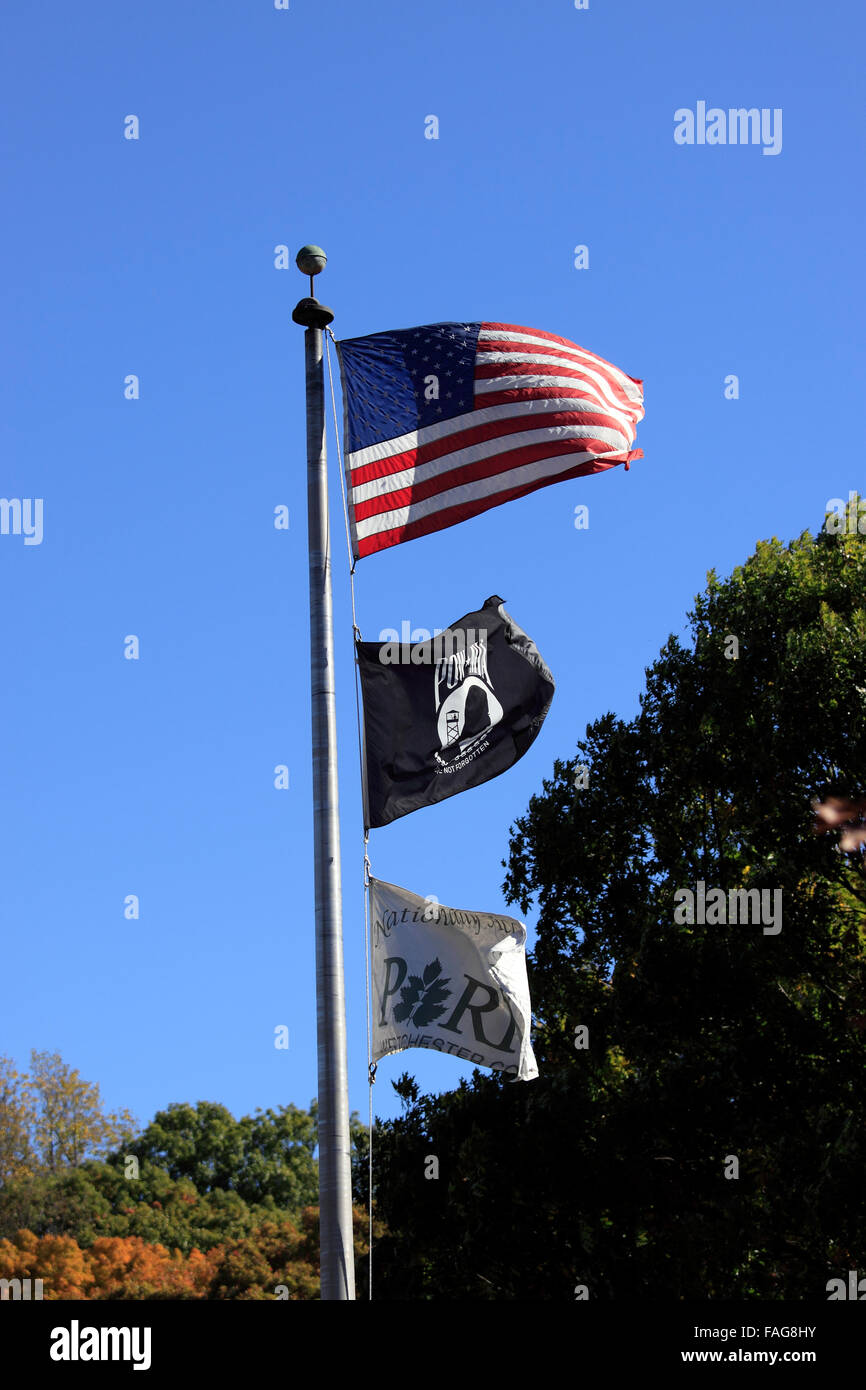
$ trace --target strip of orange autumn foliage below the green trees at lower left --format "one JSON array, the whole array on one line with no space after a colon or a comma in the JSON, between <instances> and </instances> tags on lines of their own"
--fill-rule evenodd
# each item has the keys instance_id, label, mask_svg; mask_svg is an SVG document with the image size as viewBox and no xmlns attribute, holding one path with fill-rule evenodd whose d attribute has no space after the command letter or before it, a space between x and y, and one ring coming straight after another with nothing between
<instances>
[{"instance_id":1,"label":"strip of orange autumn foliage below the green trees at lower left","mask_svg":"<svg viewBox=\"0 0 866 1390\"><path fill-rule=\"evenodd\" d=\"M354 1213L356 1254L366 1252L364 1213ZM149 1244L139 1236L99 1237L21 1230L0 1240L0 1279L42 1279L46 1300L318 1298L318 1212L263 1222L252 1236L207 1254Z\"/></svg>"}]
</instances>

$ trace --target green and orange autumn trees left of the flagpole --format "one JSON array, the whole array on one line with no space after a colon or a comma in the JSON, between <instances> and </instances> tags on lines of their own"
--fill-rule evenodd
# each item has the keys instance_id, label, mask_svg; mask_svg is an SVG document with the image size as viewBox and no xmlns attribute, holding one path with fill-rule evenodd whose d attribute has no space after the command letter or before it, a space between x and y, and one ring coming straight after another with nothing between
<instances>
[{"instance_id":1,"label":"green and orange autumn trees left of the flagpole","mask_svg":"<svg viewBox=\"0 0 866 1390\"><path fill-rule=\"evenodd\" d=\"M175 1102L136 1133L57 1054L29 1073L0 1056L0 1279L44 1300L316 1300L317 1144L316 1101L240 1119Z\"/></svg>"}]
</instances>

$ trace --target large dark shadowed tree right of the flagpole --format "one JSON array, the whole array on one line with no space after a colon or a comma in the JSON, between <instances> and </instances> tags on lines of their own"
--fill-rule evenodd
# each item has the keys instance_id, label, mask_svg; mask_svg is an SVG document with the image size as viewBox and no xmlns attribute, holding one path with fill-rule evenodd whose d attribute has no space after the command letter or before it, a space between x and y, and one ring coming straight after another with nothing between
<instances>
[{"instance_id":1,"label":"large dark shadowed tree right of the flagpole","mask_svg":"<svg viewBox=\"0 0 866 1390\"><path fill-rule=\"evenodd\" d=\"M812 802L866 791L866 538L760 542L689 623L512 828L541 1076L402 1079L381 1295L809 1298L862 1262L866 876ZM778 922L683 920L699 884Z\"/></svg>"}]
</instances>

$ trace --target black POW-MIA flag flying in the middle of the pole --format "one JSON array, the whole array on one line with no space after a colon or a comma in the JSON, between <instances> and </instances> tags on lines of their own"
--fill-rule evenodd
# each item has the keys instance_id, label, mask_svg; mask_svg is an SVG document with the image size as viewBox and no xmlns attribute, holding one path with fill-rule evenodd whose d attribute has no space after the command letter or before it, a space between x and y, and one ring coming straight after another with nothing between
<instances>
[{"instance_id":1,"label":"black POW-MIA flag flying in the middle of the pole","mask_svg":"<svg viewBox=\"0 0 866 1390\"><path fill-rule=\"evenodd\" d=\"M553 677L502 605L493 595L477 613L416 645L356 644L367 828L480 787L535 739L553 699Z\"/></svg>"}]
</instances>

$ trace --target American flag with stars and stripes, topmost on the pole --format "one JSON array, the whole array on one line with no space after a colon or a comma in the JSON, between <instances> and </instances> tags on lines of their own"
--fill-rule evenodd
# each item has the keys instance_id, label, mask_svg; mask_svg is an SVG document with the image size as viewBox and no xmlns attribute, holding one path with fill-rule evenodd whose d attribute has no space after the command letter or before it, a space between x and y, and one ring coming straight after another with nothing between
<instances>
[{"instance_id":1,"label":"American flag with stars and stripes, topmost on the pole","mask_svg":"<svg viewBox=\"0 0 866 1390\"><path fill-rule=\"evenodd\" d=\"M356 560L644 456L642 382L556 334L428 324L338 352Z\"/></svg>"}]
</instances>

